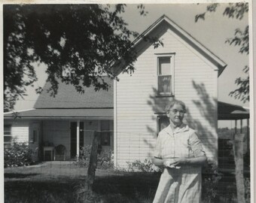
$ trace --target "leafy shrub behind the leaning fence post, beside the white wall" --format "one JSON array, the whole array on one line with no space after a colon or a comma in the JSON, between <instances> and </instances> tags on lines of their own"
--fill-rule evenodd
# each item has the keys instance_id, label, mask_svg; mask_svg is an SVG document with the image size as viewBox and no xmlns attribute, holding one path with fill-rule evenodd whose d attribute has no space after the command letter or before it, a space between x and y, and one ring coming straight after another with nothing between
<instances>
[{"instance_id":1,"label":"leafy shrub behind the leaning fence post, beside the white wall","mask_svg":"<svg viewBox=\"0 0 256 203\"><path fill-rule=\"evenodd\" d=\"M80 156L75 158L74 164L81 168L88 168L90 163L90 153L92 146L85 145L81 147ZM113 151L99 151L97 156L97 168L99 169L110 169L114 168Z\"/></svg>"}]
</instances>

